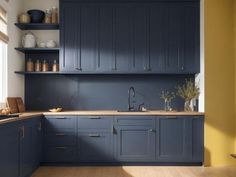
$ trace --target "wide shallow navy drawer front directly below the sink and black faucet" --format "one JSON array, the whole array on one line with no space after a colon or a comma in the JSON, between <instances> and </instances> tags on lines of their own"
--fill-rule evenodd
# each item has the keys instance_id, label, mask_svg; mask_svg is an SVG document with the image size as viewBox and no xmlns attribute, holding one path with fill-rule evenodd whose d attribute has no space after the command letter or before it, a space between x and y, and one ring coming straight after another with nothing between
<instances>
[{"instance_id":1,"label":"wide shallow navy drawer front directly below the sink and black faucet","mask_svg":"<svg viewBox=\"0 0 236 177\"><path fill-rule=\"evenodd\" d=\"M116 125L124 126L153 126L155 125L154 116L122 116L115 118Z\"/></svg>"}]
</instances>

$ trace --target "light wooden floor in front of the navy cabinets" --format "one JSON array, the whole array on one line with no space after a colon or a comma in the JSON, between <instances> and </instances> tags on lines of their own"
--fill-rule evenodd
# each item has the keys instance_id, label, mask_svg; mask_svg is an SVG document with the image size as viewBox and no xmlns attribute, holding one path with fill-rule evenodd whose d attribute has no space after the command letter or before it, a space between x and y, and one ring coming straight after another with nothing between
<instances>
[{"instance_id":1,"label":"light wooden floor in front of the navy cabinets","mask_svg":"<svg viewBox=\"0 0 236 177\"><path fill-rule=\"evenodd\" d=\"M236 177L236 167L40 167L32 177Z\"/></svg>"}]
</instances>

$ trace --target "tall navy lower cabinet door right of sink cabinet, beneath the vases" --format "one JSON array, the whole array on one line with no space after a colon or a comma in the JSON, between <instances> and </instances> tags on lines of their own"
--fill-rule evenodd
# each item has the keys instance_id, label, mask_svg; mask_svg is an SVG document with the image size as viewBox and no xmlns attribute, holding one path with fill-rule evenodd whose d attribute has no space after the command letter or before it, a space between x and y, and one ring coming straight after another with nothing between
<instances>
[{"instance_id":1,"label":"tall navy lower cabinet door right of sink cabinet, beneath the vases","mask_svg":"<svg viewBox=\"0 0 236 177\"><path fill-rule=\"evenodd\" d=\"M157 120L156 158L159 162L191 161L191 118Z\"/></svg>"}]
</instances>

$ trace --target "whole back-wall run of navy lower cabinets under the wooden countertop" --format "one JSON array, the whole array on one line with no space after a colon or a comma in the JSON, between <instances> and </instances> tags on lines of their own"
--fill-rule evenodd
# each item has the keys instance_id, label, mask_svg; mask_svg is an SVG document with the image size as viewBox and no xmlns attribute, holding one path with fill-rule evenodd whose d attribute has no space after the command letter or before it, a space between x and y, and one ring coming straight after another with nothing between
<instances>
[{"instance_id":1,"label":"whole back-wall run of navy lower cabinets under the wooden countertop","mask_svg":"<svg viewBox=\"0 0 236 177\"><path fill-rule=\"evenodd\" d=\"M204 161L203 116L50 116L44 127L46 163Z\"/></svg>"}]
</instances>

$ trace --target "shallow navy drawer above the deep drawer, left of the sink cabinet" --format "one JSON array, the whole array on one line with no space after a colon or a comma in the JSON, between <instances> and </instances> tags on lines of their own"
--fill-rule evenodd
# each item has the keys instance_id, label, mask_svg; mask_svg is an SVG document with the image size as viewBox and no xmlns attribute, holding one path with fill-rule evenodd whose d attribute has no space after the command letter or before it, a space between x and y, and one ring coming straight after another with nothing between
<instances>
[{"instance_id":1,"label":"shallow navy drawer above the deep drawer, left of the sink cabinet","mask_svg":"<svg viewBox=\"0 0 236 177\"><path fill-rule=\"evenodd\" d=\"M111 129L113 117L87 116L78 118L78 129Z\"/></svg>"}]
</instances>

